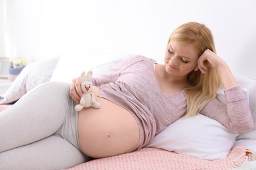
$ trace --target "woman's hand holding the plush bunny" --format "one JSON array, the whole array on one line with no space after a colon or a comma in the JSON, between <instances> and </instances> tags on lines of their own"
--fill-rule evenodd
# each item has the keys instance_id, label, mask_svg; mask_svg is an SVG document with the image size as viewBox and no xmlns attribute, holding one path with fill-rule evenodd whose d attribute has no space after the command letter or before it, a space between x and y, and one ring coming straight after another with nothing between
<instances>
[{"instance_id":1,"label":"woman's hand holding the plush bunny","mask_svg":"<svg viewBox=\"0 0 256 170\"><path fill-rule=\"evenodd\" d=\"M81 90L81 78L77 77L72 80L70 85L70 96L76 103L80 103L80 99L83 96L83 92Z\"/></svg>"}]
</instances>

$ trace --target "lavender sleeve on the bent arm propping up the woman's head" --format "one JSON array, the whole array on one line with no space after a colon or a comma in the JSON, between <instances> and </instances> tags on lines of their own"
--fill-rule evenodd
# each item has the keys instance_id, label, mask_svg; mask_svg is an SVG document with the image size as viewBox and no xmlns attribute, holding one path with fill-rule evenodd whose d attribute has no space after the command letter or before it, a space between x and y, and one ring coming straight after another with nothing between
<instances>
[{"instance_id":1,"label":"lavender sleeve on the bent arm propping up the woman's head","mask_svg":"<svg viewBox=\"0 0 256 170\"><path fill-rule=\"evenodd\" d=\"M200 111L201 114L213 118L232 131L243 132L253 127L253 118L249 103L240 86L224 90L226 104L213 99Z\"/></svg>"}]
</instances>

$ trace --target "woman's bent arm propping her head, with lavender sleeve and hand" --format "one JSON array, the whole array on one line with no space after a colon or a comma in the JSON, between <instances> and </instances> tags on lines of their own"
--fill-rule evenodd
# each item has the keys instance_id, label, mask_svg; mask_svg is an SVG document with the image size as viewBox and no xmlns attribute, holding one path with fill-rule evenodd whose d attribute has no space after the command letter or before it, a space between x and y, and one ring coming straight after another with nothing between
<instances>
[{"instance_id":1,"label":"woman's bent arm propping her head, with lavender sleeve and hand","mask_svg":"<svg viewBox=\"0 0 256 170\"><path fill-rule=\"evenodd\" d=\"M205 73L207 67L217 69L221 75L226 97L226 105L214 99L201 110L202 114L213 118L232 131L247 131L253 126L253 118L245 94L226 62L207 49L198 59L198 69Z\"/></svg>"}]
</instances>

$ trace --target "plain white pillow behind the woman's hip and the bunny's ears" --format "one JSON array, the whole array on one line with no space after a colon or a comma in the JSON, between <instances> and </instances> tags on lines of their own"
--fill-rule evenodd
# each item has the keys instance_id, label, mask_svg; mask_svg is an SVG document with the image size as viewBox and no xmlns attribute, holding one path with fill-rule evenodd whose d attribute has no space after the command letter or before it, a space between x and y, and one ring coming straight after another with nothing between
<instances>
[{"instance_id":1,"label":"plain white pillow behind the woman's hip and the bunny's ears","mask_svg":"<svg viewBox=\"0 0 256 170\"><path fill-rule=\"evenodd\" d=\"M98 76L125 58L127 58L127 54L108 54L68 48L60 54L50 81L70 83L74 78L80 76L82 71L89 70L93 70L93 76Z\"/></svg>"}]
</instances>

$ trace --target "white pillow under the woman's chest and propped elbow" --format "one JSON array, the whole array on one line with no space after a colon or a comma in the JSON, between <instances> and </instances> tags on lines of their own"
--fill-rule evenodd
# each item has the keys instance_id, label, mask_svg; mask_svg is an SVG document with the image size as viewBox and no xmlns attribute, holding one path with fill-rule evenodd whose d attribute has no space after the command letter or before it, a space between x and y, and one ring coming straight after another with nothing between
<instances>
[{"instance_id":1,"label":"white pillow under the woman's chest and propped elbow","mask_svg":"<svg viewBox=\"0 0 256 170\"><path fill-rule=\"evenodd\" d=\"M156 135L148 147L217 160L228 156L238 135L239 133L228 130L216 120L198 114L177 120Z\"/></svg>"}]
</instances>

